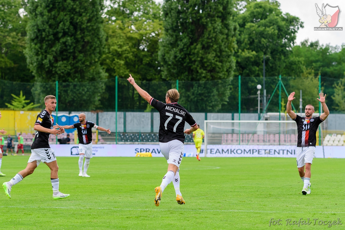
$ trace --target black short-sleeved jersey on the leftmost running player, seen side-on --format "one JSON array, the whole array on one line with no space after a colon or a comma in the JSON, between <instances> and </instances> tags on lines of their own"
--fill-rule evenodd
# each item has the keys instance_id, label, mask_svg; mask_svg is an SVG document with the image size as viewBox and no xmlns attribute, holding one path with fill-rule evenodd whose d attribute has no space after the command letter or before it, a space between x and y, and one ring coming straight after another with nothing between
<instances>
[{"instance_id":1,"label":"black short-sleeved jersey on the leftmost running player, seen side-on","mask_svg":"<svg viewBox=\"0 0 345 230\"><path fill-rule=\"evenodd\" d=\"M40 126L47 129L53 129L54 119L51 114L44 109L37 115L35 125L36 124L39 124ZM34 140L31 144L31 149L50 148L50 135L50 133L36 131Z\"/></svg>"}]
</instances>

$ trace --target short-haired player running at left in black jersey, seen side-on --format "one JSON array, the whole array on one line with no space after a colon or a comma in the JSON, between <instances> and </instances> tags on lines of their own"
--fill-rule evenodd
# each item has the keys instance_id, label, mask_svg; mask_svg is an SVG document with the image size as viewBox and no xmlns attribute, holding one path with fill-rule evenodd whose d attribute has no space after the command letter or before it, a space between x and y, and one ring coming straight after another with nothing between
<instances>
[{"instance_id":1,"label":"short-haired player running at left in black jersey, seen side-on","mask_svg":"<svg viewBox=\"0 0 345 230\"><path fill-rule=\"evenodd\" d=\"M36 130L35 140L31 145L31 156L28 161L27 167L18 172L10 181L4 182L2 187L5 190L6 196L11 198L11 189L14 184L19 183L23 178L29 176L37 168L37 166L43 162L50 168L50 181L53 187L53 199L64 199L69 197L69 194L63 194L59 192L59 177L58 177L58 164L54 151L49 146L50 135L64 133L65 130L56 129L54 125L54 119L51 116L51 112L56 108L55 96L48 95L45 97L44 102L46 109L42 110L36 119L33 129Z\"/></svg>"}]
</instances>

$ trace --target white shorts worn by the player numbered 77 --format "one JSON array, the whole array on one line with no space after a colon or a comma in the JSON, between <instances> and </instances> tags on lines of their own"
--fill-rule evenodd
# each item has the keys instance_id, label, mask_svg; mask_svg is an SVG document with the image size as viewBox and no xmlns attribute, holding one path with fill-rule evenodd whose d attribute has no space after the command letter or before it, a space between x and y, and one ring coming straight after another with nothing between
<instances>
[{"instance_id":1,"label":"white shorts worn by the player numbered 77","mask_svg":"<svg viewBox=\"0 0 345 230\"><path fill-rule=\"evenodd\" d=\"M172 140L166 143L159 142L160 152L167 159L168 164L175 164L180 167L183 151L185 149L183 143L179 140Z\"/></svg>"}]
</instances>

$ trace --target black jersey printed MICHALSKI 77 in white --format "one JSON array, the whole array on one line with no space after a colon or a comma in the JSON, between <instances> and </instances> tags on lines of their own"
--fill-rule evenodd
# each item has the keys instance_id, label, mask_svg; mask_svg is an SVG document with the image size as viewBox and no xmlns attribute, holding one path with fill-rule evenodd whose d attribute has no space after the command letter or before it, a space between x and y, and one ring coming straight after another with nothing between
<instances>
[{"instance_id":1,"label":"black jersey printed MICHALSKI 77 in white","mask_svg":"<svg viewBox=\"0 0 345 230\"><path fill-rule=\"evenodd\" d=\"M159 112L159 142L166 143L179 140L184 143L185 122L191 127L196 126L196 122L190 113L178 103L165 104L154 98L151 98L150 105Z\"/></svg>"}]
</instances>

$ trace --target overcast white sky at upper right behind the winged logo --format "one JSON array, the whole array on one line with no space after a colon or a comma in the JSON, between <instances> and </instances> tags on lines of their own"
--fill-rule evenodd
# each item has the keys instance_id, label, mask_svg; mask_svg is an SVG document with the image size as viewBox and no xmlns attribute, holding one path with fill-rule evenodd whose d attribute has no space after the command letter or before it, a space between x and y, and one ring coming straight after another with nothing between
<instances>
[{"instance_id":1,"label":"overcast white sky at upper right behind the winged logo","mask_svg":"<svg viewBox=\"0 0 345 230\"><path fill-rule=\"evenodd\" d=\"M163 0L155 1L163 2ZM315 3L320 9L322 3L324 5L328 3L331 6L339 6L341 10L345 10L345 0L280 0L279 2L280 9L284 13L297 16L304 22L304 28L297 33L297 44L305 39L310 41L319 40L321 44L330 43L332 46L341 46L342 43L345 43L345 12L340 13L340 22L337 25L337 27L343 27L343 31L314 31L314 27L320 26L320 17L316 12Z\"/></svg>"}]
</instances>

